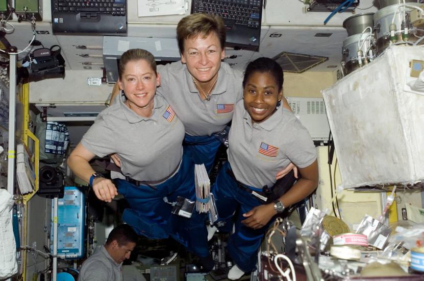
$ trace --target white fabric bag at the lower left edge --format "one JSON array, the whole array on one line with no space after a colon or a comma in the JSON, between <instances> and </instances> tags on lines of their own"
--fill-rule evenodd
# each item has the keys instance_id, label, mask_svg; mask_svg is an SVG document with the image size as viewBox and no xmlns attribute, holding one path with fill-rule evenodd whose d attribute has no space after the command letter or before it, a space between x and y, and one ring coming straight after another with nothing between
<instances>
[{"instance_id":1,"label":"white fabric bag at the lower left edge","mask_svg":"<svg viewBox=\"0 0 424 281\"><path fill-rule=\"evenodd\" d=\"M0 279L17 273L16 242L12 227L13 196L0 189Z\"/></svg>"}]
</instances>

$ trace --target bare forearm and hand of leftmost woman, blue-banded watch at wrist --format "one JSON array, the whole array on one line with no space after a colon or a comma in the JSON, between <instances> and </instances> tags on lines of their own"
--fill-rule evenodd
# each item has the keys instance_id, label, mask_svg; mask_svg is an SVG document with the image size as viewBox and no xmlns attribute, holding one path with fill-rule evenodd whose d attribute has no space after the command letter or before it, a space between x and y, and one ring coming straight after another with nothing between
<instances>
[{"instance_id":1,"label":"bare forearm and hand of leftmost woman, blue-banded watch at wrist","mask_svg":"<svg viewBox=\"0 0 424 281\"><path fill-rule=\"evenodd\" d=\"M89 161L95 154L86 149L81 143L71 152L67 160L72 172L82 180L90 182L91 175L95 172ZM111 202L118 195L115 185L110 179L96 178L93 180L93 191L98 199Z\"/></svg>"}]
</instances>

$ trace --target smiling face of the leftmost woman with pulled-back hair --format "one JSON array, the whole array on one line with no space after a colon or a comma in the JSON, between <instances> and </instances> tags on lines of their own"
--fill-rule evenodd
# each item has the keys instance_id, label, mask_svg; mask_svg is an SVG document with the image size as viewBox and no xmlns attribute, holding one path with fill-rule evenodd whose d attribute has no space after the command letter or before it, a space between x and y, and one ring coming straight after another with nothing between
<instances>
[{"instance_id":1,"label":"smiling face of the leftmost woman with pulled-back hair","mask_svg":"<svg viewBox=\"0 0 424 281\"><path fill-rule=\"evenodd\" d=\"M160 76L156 75L152 66L144 59L128 61L118 81L130 108L139 113L140 108L153 107L156 87L160 85ZM131 103L136 107L131 107ZM152 106L152 107L151 107Z\"/></svg>"}]
</instances>

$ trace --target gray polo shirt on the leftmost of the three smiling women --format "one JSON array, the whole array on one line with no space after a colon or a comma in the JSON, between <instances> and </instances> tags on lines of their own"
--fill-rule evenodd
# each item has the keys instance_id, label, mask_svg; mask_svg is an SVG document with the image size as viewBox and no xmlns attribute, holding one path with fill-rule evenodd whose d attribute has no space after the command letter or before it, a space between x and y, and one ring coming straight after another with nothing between
<instances>
[{"instance_id":1,"label":"gray polo shirt on the leftmost of the three smiling women","mask_svg":"<svg viewBox=\"0 0 424 281\"><path fill-rule=\"evenodd\" d=\"M184 125L160 96L152 116L144 118L118 95L112 106L98 114L81 144L99 157L117 153L125 176L140 181L160 180L180 164Z\"/></svg>"}]
</instances>

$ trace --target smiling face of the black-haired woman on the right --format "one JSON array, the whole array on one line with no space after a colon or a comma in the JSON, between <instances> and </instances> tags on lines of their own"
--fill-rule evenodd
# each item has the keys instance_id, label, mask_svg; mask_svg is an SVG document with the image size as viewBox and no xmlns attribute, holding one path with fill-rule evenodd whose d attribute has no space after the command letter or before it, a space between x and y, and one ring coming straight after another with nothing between
<instances>
[{"instance_id":1,"label":"smiling face of the black-haired woman on the right","mask_svg":"<svg viewBox=\"0 0 424 281\"><path fill-rule=\"evenodd\" d=\"M269 118L283 97L279 85L269 72L254 72L246 80L243 89L244 108L251 115L253 123Z\"/></svg>"}]
</instances>

